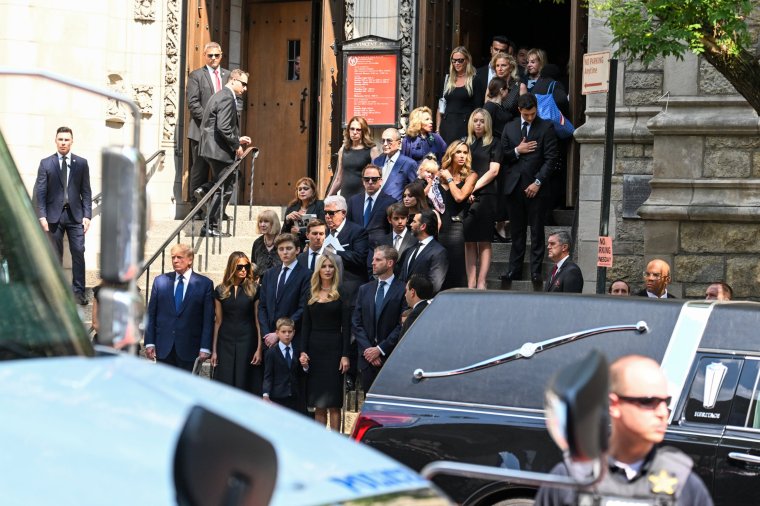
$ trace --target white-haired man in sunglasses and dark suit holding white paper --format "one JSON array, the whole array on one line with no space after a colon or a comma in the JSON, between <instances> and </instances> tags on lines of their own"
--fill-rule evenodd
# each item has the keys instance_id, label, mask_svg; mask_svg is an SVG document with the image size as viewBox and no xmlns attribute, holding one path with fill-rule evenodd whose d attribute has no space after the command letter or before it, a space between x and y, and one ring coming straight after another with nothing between
<instances>
[{"instance_id":1,"label":"white-haired man in sunglasses and dark suit holding white paper","mask_svg":"<svg viewBox=\"0 0 760 506\"><path fill-rule=\"evenodd\" d=\"M369 240L367 231L346 220L346 199L331 195L325 199L325 222L329 234L335 237L343 251L336 248L336 254L343 260L343 290L349 305L353 307L356 291L367 282L367 253Z\"/></svg>"}]
</instances>

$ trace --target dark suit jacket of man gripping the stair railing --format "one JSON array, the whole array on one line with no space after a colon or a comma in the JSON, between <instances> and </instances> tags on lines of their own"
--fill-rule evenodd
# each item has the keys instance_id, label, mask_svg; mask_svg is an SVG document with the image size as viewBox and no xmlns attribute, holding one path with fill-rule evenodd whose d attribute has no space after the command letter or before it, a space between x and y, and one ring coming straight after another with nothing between
<instances>
[{"instance_id":1,"label":"dark suit jacket of man gripping the stair railing","mask_svg":"<svg viewBox=\"0 0 760 506\"><path fill-rule=\"evenodd\" d=\"M203 110L199 152L204 158L232 163L235 161L235 151L239 147L237 101L235 93L224 87L209 99Z\"/></svg>"}]
</instances>

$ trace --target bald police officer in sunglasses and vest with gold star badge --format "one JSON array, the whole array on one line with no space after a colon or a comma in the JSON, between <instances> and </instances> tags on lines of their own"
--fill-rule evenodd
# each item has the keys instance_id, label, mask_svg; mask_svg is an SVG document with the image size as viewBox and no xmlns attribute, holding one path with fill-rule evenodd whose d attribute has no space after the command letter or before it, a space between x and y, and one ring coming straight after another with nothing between
<instances>
[{"instance_id":1,"label":"bald police officer in sunglasses and vest with gold star badge","mask_svg":"<svg viewBox=\"0 0 760 506\"><path fill-rule=\"evenodd\" d=\"M542 487L535 504L712 505L692 460L675 448L656 446L665 437L671 408L660 365L638 355L619 358L610 366L609 396L612 432L605 477L582 491ZM568 474L564 463L552 472Z\"/></svg>"}]
</instances>

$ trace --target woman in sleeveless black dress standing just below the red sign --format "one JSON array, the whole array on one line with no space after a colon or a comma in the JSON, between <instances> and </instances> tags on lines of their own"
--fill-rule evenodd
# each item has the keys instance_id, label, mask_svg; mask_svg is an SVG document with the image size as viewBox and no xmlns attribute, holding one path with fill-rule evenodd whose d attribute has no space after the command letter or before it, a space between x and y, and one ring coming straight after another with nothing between
<instances>
[{"instance_id":1,"label":"woman in sleeveless black dress standing just below the red sign","mask_svg":"<svg viewBox=\"0 0 760 506\"><path fill-rule=\"evenodd\" d=\"M343 145L338 150L338 168L327 196L340 194L348 201L364 191L362 170L380 156L380 150L372 140L367 120L354 116L343 133Z\"/></svg>"}]
</instances>

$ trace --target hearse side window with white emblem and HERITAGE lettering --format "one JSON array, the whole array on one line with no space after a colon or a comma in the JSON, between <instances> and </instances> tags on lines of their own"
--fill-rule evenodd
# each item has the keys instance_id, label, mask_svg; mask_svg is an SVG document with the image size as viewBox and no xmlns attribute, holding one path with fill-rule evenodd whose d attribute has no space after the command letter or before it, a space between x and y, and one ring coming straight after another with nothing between
<instances>
[{"instance_id":1,"label":"hearse side window with white emblem and HERITAGE lettering","mask_svg":"<svg viewBox=\"0 0 760 506\"><path fill-rule=\"evenodd\" d=\"M694 423L726 424L742 362L743 359L702 357L681 419Z\"/></svg>"}]
</instances>

